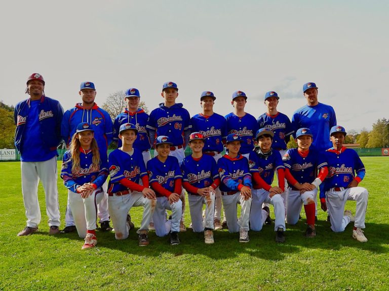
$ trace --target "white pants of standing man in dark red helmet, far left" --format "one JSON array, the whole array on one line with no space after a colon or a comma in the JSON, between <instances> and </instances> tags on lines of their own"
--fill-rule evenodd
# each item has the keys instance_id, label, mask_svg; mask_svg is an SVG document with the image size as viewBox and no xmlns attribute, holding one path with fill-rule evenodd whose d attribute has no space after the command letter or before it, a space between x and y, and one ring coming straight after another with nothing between
<instances>
[{"instance_id":1,"label":"white pants of standing man in dark red helmet, far left","mask_svg":"<svg viewBox=\"0 0 389 291\"><path fill-rule=\"evenodd\" d=\"M20 162L20 165L27 226L34 228L41 223L41 209L38 202L39 180L42 180L43 188L45 189L46 214L49 217L49 226L60 226L57 157L43 162Z\"/></svg>"}]
</instances>

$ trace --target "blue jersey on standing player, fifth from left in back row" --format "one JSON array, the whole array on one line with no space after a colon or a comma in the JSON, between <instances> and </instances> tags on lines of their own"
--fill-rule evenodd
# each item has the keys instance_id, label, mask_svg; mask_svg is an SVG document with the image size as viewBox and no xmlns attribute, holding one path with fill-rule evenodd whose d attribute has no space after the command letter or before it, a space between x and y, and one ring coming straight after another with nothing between
<instances>
[{"instance_id":1,"label":"blue jersey on standing player, fifth from left in back row","mask_svg":"<svg viewBox=\"0 0 389 291\"><path fill-rule=\"evenodd\" d=\"M204 135L205 144L203 152L222 152L222 139L227 136L225 118L217 113L211 116L196 114L190 119L192 132Z\"/></svg>"}]
</instances>

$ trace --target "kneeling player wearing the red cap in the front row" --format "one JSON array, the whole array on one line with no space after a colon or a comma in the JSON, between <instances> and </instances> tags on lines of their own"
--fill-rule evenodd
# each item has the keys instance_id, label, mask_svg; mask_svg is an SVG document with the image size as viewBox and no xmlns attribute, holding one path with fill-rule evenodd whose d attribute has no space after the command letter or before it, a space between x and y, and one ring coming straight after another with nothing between
<instances>
[{"instance_id":1,"label":"kneeling player wearing the red cap in the front row","mask_svg":"<svg viewBox=\"0 0 389 291\"><path fill-rule=\"evenodd\" d=\"M183 187L188 192L189 211L192 229L203 232L206 244L213 244L215 189L220 184L219 172L215 160L203 155L205 137L200 132L189 136L189 147L192 155L186 157L181 164ZM205 221L202 216L205 207Z\"/></svg>"}]
</instances>

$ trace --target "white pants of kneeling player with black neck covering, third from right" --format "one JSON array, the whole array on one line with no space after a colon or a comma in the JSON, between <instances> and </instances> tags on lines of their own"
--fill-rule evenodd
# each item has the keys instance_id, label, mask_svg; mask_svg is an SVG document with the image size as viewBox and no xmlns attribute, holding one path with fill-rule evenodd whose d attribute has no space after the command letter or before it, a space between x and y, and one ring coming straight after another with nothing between
<instances>
[{"instance_id":1,"label":"white pants of kneeling player with black neck covering, third from right","mask_svg":"<svg viewBox=\"0 0 389 291\"><path fill-rule=\"evenodd\" d=\"M262 203L266 202L274 206L274 214L276 217L274 230L279 227L285 228L285 207L284 199L280 194L269 196L269 192L264 189L252 189L251 195L251 212L250 212L250 228L254 231L260 231L267 218L267 212L262 210Z\"/></svg>"}]
</instances>

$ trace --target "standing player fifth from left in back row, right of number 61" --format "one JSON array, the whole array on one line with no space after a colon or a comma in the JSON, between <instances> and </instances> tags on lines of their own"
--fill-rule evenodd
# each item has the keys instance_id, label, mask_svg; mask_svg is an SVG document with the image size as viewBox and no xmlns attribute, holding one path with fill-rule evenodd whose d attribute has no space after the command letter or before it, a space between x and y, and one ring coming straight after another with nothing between
<instances>
[{"instance_id":1,"label":"standing player fifth from left in back row, right of number 61","mask_svg":"<svg viewBox=\"0 0 389 291\"><path fill-rule=\"evenodd\" d=\"M217 162L221 158L223 151L223 142L227 133L225 127L225 118L213 112L216 97L211 91L204 91L200 96L200 106L202 112L196 114L190 119L192 124L192 132L200 132L205 140L203 154L212 156ZM215 230L222 229L221 219L221 193L220 189L215 189ZM223 215L225 222L225 215Z\"/></svg>"}]
</instances>

